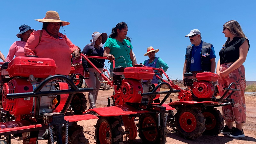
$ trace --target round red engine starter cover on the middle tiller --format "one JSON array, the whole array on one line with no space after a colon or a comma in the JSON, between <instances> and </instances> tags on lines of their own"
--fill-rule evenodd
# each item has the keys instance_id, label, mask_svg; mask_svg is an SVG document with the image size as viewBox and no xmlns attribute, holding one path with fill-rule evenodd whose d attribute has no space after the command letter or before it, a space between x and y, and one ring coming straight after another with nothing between
<instances>
[{"instance_id":1,"label":"round red engine starter cover on the middle tiller","mask_svg":"<svg viewBox=\"0 0 256 144\"><path fill-rule=\"evenodd\" d=\"M120 90L125 102L141 102L142 96L140 94L143 93L143 88L138 80L124 79Z\"/></svg>"}]
</instances>

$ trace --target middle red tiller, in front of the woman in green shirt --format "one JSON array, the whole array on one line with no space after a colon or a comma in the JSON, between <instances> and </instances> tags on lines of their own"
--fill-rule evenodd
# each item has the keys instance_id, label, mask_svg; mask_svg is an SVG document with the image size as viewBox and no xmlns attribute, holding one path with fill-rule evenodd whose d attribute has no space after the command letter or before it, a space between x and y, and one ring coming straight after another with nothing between
<instances>
[{"instance_id":1,"label":"middle red tiller, in front of the woman in green shirt","mask_svg":"<svg viewBox=\"0 0 256 144\"><path fill-rule=\"evenodd\" d=\"M145 68L142 65L130 68L115 67L115 61L113 61L114 74L113 81L111 81L89 60L89 58L107 59L106 57L80 55L100 73L105 80L104 83L114 87L113 95L108 98L108 107L88 110L99 115L95 126L96 143L119 144L123 141L124 134L129 140L135 140L138 132L143 143L166 143L168 132L166 110L174 108L164 102L171 93L180 92L180 90L173 90L166 82L158 85L151 84L150 79L154 75L152 68ZM162 85L167 85L170 90L159 92ZM152 103L153 99L158 98L160 94L166 94L161 103ZM110 104L111 99L112 105ZM121 127L120 116L122 116L125 130ZM139 116L138 129L134 122L136 116Z\"/></svg>"}]
</instances>

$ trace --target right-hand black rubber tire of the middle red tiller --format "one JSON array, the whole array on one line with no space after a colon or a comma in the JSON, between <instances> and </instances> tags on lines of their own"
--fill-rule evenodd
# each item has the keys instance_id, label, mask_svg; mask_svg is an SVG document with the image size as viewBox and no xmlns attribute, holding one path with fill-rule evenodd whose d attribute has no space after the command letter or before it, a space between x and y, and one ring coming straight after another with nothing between
<instances>
[{"instance_id":1,"label":"right-hand black rubber tire of the middle red tiller","mask_svg":"<svg viewBox=\"0 0 256 144\"><path fill-rule=\"evenodd\" d=\"M144 119L146 119L146 121L144 121ZM152 120L152 122L150 122L149 120ZM151 114L142 114L139 118L139 124L138 124L138 127L139 127L139 130L142 129L142 128L148 128L147 126L147 122L150 122L151 124L154 124L154 126L151 126L153 127L151 131L144 131L144 132L140 132L139 133L139 137L140 139L142 140L143 143L146 143L146 144L160 144L162 143L162 131L161 129L158 129L157 128L157 117L156 116L152 116ZM155 132L156 134L151 134L149 135L148 132ZM168 133L168 130L165 128L164 129L164 140L165 140L165 143L166 143L166 137L167 137L167 133ZM153 140L149 140L147 137L155 137Z\"/></svg>"}]
</instances>

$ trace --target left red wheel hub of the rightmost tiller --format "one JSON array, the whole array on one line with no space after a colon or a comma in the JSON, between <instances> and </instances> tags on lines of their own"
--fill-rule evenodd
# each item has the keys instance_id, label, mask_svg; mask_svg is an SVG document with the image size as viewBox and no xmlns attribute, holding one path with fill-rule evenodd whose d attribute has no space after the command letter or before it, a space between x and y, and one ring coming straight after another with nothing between
<instances>
[{"instance_id":1,"label":"left red wheel hub of the rightmost tiller","mask_svg":"<svg viewBox=\"0 0 256 144\"><path fill-rule=\"evenodd\" d=\"M196 118L190 112L184 112L180 116L180 127L185 132L193 132L196 128Z\"/></svg>"}]
</instances>

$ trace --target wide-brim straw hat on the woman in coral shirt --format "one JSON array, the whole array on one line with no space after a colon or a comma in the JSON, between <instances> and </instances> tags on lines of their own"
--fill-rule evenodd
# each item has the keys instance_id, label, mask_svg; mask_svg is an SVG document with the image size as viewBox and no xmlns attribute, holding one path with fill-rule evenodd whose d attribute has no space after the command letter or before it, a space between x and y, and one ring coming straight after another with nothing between
<instances>
[{"instance_id":1,"label":"wide-brim straw hat on the woman in coral shirt","mask_svg":"<svg viewBox=\"0 0 256 144\"><path fill-rule=\"evenodd\" d=\"M63 26L70 24L67 21L60 20L59 13L56 11L48 11L48 12L46 12L44 19L37 19L36 21L39 21L39 22L61 22Z\"/></svg>"}]
</instances>

